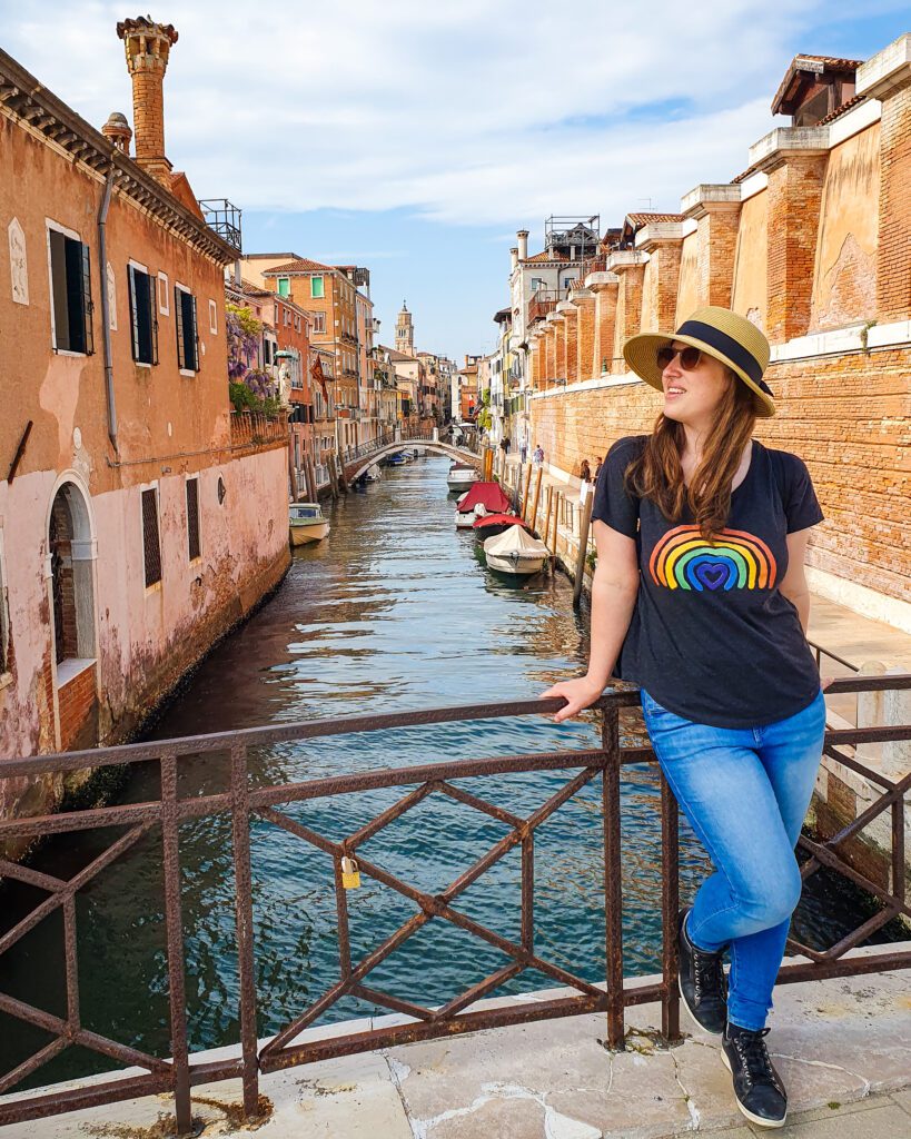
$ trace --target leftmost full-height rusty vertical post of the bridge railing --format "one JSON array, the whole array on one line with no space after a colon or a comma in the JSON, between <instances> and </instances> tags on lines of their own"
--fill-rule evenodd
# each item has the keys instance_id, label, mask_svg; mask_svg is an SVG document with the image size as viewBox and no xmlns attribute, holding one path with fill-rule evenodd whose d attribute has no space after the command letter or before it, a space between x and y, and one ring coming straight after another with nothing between
<instances>
[{"instance_id":1,"label":"leftmost full-height rusty vertical post of the bridge railing","mask_svg":"<svg viewBox=\"0 0 911 1139\"><path fill-rule=\"evenodd\" d=\"M183 918L180 906L178 836L178 762L162 755L162 853L164 913L167 935L167 993L171 1005L171 1056L174 1068L174 1117L178 1136L191 1136L190 1063L187 1047L187 990L183 962Z\"/></svg>"}]
</instances>

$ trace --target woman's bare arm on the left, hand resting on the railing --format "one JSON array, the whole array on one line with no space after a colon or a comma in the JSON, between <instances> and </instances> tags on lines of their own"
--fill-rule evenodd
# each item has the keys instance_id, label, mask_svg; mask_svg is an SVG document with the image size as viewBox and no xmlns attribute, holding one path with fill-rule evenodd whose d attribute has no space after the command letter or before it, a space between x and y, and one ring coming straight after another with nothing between
<instances>
[{"instance_id":1,"label":"woman's bare arm on the left, hand resting on the railing","mask_svg":"<svg viewBox=\"0 0 911 1139\"><path fill-rule=\"evenodd\" d=\"M568 720L593 704L605 690L623 647L639 593L635 540L612 530L604 522L596 522L593 526L598 562L591 587L589 671L584 677L560 681L541 694L541 698L566 698L565 707L553 716L556 723Z\"/></svg>"}]
</instances>

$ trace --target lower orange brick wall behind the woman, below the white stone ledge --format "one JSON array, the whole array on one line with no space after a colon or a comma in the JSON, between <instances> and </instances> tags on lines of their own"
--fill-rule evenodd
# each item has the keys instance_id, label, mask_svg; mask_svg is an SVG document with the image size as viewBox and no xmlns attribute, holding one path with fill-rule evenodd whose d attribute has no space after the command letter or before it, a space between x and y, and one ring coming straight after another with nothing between
<instances>
[{"instance_id":1,"label":"lower orange brick wall behind the woman, below the white stone ledge","mask_svg":"<svg viewBox=\"0 0 911 1139\"><path fill-rule=\"evenodd\" d=\"M756 437L807 464L826 522L807 565L908 599L911 497L911 347L772 364L778 415ZM578 469L623 435L651 429L660 396L619 384L532 401L532 432L548 462Z\"/></svg>"}]
</instances>

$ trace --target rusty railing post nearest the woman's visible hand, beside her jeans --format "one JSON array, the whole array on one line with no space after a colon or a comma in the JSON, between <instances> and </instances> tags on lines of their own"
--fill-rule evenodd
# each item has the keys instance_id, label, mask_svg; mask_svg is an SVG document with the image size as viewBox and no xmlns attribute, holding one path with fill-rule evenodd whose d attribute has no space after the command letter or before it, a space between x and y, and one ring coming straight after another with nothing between
<instances>
[{"instance_id":1,"label":"rusty railing post nearest the woman's visible hand, beside her jeans","mask_svg":"<svg viewBox=\"0 0 911 1139\"><path fill-rule=\"evenodd\" d=\"M619 713L616 707L601 712L601 810L605 837L605 984L607 989L607 1043L614 1050L625 1048L625 1008L623 997L623 887L621 883L619 831Z\"/></svg>"}]
</instances>

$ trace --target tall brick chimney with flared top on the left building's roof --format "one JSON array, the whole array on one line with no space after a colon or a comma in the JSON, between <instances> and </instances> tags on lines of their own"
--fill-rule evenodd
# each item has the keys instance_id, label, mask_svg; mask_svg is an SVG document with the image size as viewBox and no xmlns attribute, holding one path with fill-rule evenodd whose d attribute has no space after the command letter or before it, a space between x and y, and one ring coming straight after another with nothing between
<instances>
[{"instance_id":1,"label":"tall brick chimney with flared top on the left building's roof","mask_svg":"<svg viewBox=\"0 0 911 1139\"><path fill-rule=\"evenodd\" d=\"M164 73L172 44L178 42L173 24L156 24L149 16L124 19L117 35L126 50L126 69L133 81L136 161L171 188L171 163L164 150Z\"/></svg>"}]
</instances>

